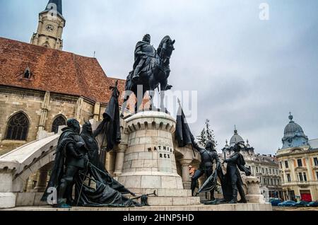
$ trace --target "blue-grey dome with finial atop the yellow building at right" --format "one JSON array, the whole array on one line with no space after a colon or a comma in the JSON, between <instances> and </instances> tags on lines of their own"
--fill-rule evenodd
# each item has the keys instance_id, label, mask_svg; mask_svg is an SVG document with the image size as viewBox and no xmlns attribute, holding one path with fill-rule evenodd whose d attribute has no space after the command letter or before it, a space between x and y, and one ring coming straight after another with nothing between
<instances>
[{"instance_id":1,"label":"blue-grey dome with finial atop the yellow building at right","mask_svg":"<svg viewBox=\"0 0 318 225\"><path fill-rule=\"evenodd\" d=\"M293 121L294 117L289 113L290 122L285 127L283 137L283 149L304 146L308 144L308 137L302 127Z\"/></svg>"}]
</instances>

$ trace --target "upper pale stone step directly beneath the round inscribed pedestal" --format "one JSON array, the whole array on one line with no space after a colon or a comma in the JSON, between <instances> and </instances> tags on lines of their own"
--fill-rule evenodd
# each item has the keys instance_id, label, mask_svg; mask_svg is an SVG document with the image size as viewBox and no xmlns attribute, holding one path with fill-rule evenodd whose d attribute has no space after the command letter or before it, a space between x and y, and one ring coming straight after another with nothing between
<instances>
[{"instance_id":1,"label":"upper pale stone step directly beneath the round inscribed pedestal","mask_svg":"<svg viewBox=\"0 0 318 225\"><path fill-rule=\"evenodd\" d=\"M131 192L135 192L140 195L151 194L155 191L158 197L192 197L191 190L182 189L139 189L131 188Z\"/></svg>"}]
</instances>

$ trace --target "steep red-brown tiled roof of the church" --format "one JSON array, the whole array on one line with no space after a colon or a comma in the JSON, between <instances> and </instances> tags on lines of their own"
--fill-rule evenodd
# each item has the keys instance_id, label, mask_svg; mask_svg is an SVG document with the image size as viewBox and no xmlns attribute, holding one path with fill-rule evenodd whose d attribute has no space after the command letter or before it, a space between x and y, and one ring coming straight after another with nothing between
<instances>
[{"instance_id":1,"label":"steep red-brown tiled roof of the church","mask_svg":"<svg viewBox=\"0 0 318 225\"><path fill-rule=\"evenodd\" d=\"M24 79L25 69L32 73ZM0 37L0 85L83 96L108 103L114 82L124 91L125 81L106 76L98 60Z\"/></svg>"}]
</instances>

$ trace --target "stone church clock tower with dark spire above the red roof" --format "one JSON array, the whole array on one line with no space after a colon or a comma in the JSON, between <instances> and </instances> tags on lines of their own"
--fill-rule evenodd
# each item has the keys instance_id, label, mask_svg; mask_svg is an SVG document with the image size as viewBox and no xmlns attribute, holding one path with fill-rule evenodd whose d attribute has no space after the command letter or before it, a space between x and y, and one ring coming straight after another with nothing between
<instances>
[{"instance_id":1,"label":"stone church clock tower with dark spire above the red roof","mask_svg":"<svg viewBox=\"0 0 318 225\"><path fill-rule=\"evenodd\" d=\"M37 33L33 33L31 44L62 50L61 36L65 22L62 16L61 0L49 0L45 11L39 13Z\"/></svg>"}]
</instances>

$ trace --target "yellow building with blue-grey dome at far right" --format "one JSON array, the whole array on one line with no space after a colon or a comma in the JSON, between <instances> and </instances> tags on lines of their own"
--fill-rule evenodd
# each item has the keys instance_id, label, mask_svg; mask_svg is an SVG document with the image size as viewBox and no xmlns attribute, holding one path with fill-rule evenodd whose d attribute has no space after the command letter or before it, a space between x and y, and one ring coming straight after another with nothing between
<instances>
[{"instance_id":1,"label":"yellow building with blue-grey dome at far right","mask_svg":"<svg viewBox=\"0 0 318 225\"><path fill-rule=\"evenodd\" d=\"M284 197L307 202L318 200L318 139L309 140L291 113L289 120L283 147L277 151Z\"/></svg>"}]
</instances>

